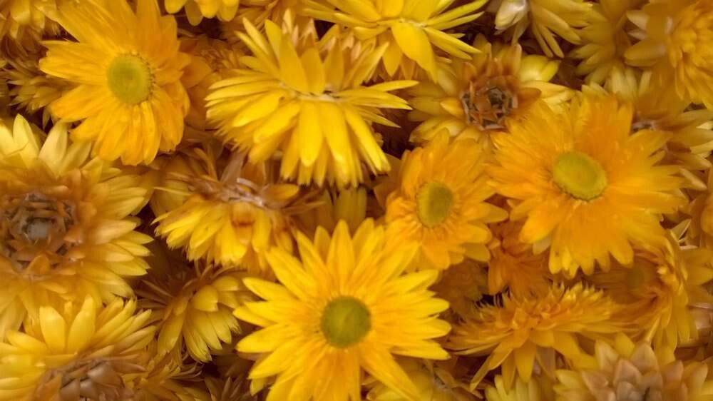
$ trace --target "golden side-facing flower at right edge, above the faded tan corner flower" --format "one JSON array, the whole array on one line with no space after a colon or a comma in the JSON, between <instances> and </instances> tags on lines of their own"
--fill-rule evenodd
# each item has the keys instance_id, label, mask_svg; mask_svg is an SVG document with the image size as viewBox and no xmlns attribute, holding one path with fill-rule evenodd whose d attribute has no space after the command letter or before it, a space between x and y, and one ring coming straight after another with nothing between
<instances>
[{"instance_id":1,"label":"golden side-facing flower at right edge, above the faded tan corner flower","mask_svg":"<svg viewBox=\"0 0 713 401\"><path fill-rule=\"evenodd\" d=\"M637 337L677 347L697 339L691 305L713 301L702 287L713 279L712 253L694 246L681 248L669 234L662 250L638 251L631 266L617 266L589 279L626 306L625 319L635 323Z\"/></svg>"}]
</instances>

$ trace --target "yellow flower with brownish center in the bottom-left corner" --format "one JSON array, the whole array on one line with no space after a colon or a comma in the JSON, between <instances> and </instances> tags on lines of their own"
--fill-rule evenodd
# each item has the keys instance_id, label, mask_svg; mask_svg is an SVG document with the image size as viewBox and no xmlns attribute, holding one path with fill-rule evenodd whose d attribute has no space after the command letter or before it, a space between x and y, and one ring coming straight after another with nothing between
<instances>
[{"instance_id":1,"label":"yellow flower with brownish center in the bottom-left corner","mask_svg":"<svg viewBox=\"0 0 713 401\"><path fill-rule=\"evenodd\" d=\"M23 333L0 342L0 400L131 400L155 328L136 302L40 308Z\"/></svg>"}]
</instances>

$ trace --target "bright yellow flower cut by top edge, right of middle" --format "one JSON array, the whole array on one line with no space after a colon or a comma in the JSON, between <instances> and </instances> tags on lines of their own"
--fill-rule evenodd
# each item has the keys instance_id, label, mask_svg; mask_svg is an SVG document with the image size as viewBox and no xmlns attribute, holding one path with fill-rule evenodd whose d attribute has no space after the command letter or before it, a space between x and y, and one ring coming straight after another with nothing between
<instances>
[{"instance_id":1,"label":"bright yellow flower cut by top edge, right of middle","mask_svg":"<svg viewBox=\"0 0 713 401\"><path fill-rule=\"evenodd\" d=\"M485 0L465 1L449 9L455 0L366 0L354 4L344 0L305 0L305 13L314 18L348 26L361 41L375 39L386 46L381 63L389 76L401 72L414 78L418 67L436 81L438 56L434 46L450 58L469 60L478 51L458 36L445 31L466 24L483 13L476 13ZM336 10L334 9L336 8Z\"/></svg>"}]
</instances>

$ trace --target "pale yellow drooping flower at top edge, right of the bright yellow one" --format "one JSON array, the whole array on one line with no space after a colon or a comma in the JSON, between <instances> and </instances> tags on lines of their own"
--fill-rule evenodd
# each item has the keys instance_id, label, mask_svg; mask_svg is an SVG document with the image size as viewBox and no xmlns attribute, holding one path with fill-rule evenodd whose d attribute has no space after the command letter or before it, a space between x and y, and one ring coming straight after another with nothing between
<instances>
[{"instance_id":1,"label":"pale yellow drooping flower at top edge, right of the bright yellow one","mask_svg":"<svg viewBox=\"0 0 713 401\"><path fill-rule=\"evenodd\" d=\"M529 26L545 55L564 57L555 35L579 44L575 28L587 25L591 7L592 3L584 0L496 0L488 10L496 12L496 29L509 30L513 41Z\"/></svg>"}]
</instances>

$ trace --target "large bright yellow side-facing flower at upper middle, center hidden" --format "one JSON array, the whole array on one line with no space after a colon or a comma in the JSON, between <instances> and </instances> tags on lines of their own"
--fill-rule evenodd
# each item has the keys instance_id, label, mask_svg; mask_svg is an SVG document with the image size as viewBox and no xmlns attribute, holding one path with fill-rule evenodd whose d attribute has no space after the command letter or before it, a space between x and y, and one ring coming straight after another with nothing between
<instances>
[{"instance_id":1,"label":"large bright yellow side-facing flower at upper middle, center hidden","mask_svg":"<svg viewBox=\"0 0 713 401\"><path fill-rule=\"evenodd\" d=\"M385 46L351 48L336 26L319 43L313 26L302 32L284 24L280 31L267 21L267 39L250 21L245 26L248 34L239 36L252 61L207 97L220 135L249 150L252 163L281 153L280 176L300 184L355 186L364 181L362 163L372 173L388 171L371 123L394 125L381 108L409 106L388 92L414 82L362 86Z\"/></svg>"}]
</instances>

